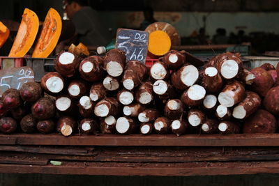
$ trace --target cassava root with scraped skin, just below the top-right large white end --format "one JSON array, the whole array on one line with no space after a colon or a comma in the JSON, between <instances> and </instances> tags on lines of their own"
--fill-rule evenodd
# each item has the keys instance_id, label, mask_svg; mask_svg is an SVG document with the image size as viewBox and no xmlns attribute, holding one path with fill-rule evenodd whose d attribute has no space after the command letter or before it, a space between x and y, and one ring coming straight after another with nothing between
<instances>
[{"instance_id":1,"label":"cassava root with scraped skin, just below the top-right large white end","mask_svg":"<svg viewBox=\"0 0 279 186\"><path fill-rule=\"evenodd\" d=\"M240 82L234 81L225 86L218 95L218 101L225 107L232 107L244 100L245 96L244 86Z\"/></svg>"}]
</instances>

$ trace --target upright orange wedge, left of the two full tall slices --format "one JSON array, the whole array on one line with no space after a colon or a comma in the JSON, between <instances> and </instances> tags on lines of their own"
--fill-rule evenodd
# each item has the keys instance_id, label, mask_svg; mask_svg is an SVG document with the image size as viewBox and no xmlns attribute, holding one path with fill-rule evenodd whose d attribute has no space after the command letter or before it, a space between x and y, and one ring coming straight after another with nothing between
<instances>
[{"instance_id":1,"label":"upright orange wedge, left of the two full tall slices","mask_svg":"<svg viewBox=\"0 0 279 186\"><path fill-rule=\"evenodd\" d=\"M10 49L9 57L23 57L32 47L39 29L39 19L36 13L25 8L22 22L17 31L17 36Z\"/></svg>"}]
</instances>

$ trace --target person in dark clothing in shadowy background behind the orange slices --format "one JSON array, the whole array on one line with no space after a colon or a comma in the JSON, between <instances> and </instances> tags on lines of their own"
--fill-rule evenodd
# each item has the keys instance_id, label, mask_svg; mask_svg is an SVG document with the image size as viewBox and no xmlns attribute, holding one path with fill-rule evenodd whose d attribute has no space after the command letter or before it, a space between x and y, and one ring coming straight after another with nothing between
<instances>
[{"instance_id":1,"label":"person in dark clothing in shadowy background behind the orange slices","mask_svg":"<svg viewBox=\"0 0 279 186\"><path fill-rule=\"evenodd\" d=\"M56 52L71 43L82 42L86 46L101 46L112 40L109 29L105 28L96 10L89 6L88 0L63 1L63 9L75 25L75 36L59 43Z\"/></svg>"}]
</instances>

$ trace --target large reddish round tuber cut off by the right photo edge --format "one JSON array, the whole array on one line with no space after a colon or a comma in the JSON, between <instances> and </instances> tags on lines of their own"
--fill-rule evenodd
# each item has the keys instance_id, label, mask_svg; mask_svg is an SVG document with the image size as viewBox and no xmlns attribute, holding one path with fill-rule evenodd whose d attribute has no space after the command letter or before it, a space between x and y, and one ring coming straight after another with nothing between
<instances>
[{"instance_id":1,"label":"large reddish round tuber cut off by the right photo edge","mask_svg":"<svg viewBox=\"0 0 279 186\"><path fill-rule=\"evenodd\" d=\"M271 88L266 93L263 104L266 111L279 116L279 86Z\"/></svg>"}]
</instances>

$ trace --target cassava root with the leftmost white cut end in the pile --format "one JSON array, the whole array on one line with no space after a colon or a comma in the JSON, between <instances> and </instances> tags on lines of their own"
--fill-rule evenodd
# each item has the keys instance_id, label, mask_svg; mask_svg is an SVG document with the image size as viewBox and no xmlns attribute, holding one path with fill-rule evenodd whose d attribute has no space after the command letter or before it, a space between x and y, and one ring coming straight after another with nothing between
<instances>
[{"instance_id":1,"label":"cassava root with the leftmost white cut end in the pile","mask_svg":"<svg viewBox=\"0 0 279 186\"><path fill-rule=\"evenodd\" d=\"M48 72L40 80L40 86L47 93L60 93L64 88L64 79L57 72Z\"/></svg>"}]
</instances>

